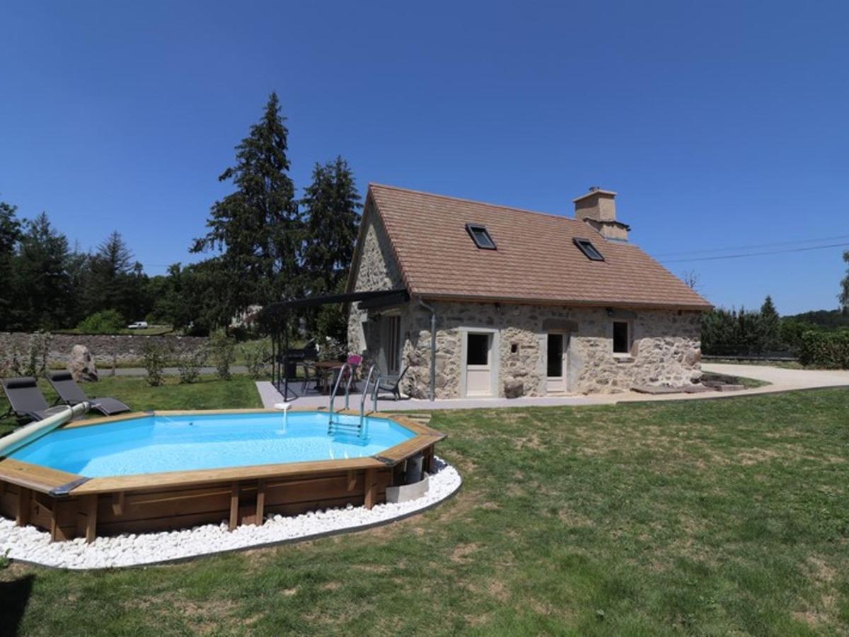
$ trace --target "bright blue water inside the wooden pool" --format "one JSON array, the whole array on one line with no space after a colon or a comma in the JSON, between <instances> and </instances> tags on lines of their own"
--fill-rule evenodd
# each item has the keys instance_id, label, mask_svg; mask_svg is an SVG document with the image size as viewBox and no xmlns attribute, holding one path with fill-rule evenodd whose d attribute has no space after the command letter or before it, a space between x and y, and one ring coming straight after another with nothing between
<instances>
[{"instance_id":1,"label":"bright blue water inside the wooden pool","mask_svg":"<svg viewBox=\"0 0 849 637\"><path fill-rule=\"evenodd\" d=\"M358 416L339 416L351 423ZM191 471L380 454L415 434L384 418L367 418L368 436L329 436L328 414L191 414L57 429L11 458L81 476Z\"/></svg>"}]
</instances>

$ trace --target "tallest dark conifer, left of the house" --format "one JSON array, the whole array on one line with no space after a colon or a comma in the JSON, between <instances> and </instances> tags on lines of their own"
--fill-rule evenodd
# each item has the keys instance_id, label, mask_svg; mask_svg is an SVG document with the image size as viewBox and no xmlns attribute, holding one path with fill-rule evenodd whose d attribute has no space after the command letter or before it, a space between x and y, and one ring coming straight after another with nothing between
<instances>
[{"instance_id":1,"label":"tallest dark conifer, left of the house","mask_svg":"<svg viewBox=\"0 0 849 637\"><path fill-rule=\"evenodd\" d=\"M219 325L254 303L273 302L298 290L302 234L288 174L284 120L272 93L261 121L236 147L235 166L218 178L232 180L235 192L212 206L209 232L192 247L194 252L221 251L215 268L205 269L205 275L219 278L216 299L222 307L210 308Z\"/></svg>"}]
</instances>

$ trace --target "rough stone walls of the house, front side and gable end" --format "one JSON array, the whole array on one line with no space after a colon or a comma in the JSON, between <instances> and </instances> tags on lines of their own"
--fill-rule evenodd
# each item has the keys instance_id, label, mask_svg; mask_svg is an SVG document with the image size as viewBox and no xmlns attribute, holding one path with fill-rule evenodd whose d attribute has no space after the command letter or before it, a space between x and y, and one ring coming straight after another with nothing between
<instances>
[{"instance_id":1,"label":"rough stone walls of the house, front side and gable end","mask_svg":"<svg viewBox=\"0 0 849 637\"><path fill-rule=\"evenodd\" d=\"M402 287L401 270L374 210L363 215L363 248L354 290ZM518 381L526 396L546 394L548 331L569 335L566 390L571 393L624 392L637 385L683 386L701 376L700 313L672 310L431 302L436 307L436 397L461 397L464 330L493 330L498 343L498 395ZM427 397L430 385L430 313L417 299L402 307L365 311L351 304L348 341L366 365L381 363L380 314L401 317L402 391ZM613 354L613 321L632 324L627 357Z\"/></svg>"}]
</instances>

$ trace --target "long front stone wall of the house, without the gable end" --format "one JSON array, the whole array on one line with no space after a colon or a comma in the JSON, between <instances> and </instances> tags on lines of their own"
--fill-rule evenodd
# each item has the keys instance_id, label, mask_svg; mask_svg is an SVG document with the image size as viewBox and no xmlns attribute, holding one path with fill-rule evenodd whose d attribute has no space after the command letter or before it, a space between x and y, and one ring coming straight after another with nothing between
<instances>
[{"instance_id":1,"label":"long front stone wall of the house, without the gable end","mask_svg":"<svg viewBox=\"0 0 849 637\"><path fill-rule=\"evenodd\" d=\"M437 313L436 397L460 397L464 329L495 330L498 395L519 381L526 396L546 394L548 331L567 330L567 391L624 392L637 385L684 386L701 376L699 313L665 310L630 312L603 308L495 303L434 303ZM405 344L410 365L405 389L425 397L430 379L430 314L411 307ZM632 324L628 356L613 354L613 321ZM515 346L515 347L514 347Z\"/></svg>"}]
</instances>

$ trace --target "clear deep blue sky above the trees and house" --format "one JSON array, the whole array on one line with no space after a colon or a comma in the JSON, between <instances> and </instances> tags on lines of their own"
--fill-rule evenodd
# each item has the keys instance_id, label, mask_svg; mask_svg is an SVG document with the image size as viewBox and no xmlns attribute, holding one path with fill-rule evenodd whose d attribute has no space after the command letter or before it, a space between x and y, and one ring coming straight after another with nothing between
<instances>
[{"instance_id":1,"label":"clear deep blue sky above the trees and house","mask_svg":"<svg viewBox=\"0 0 849 637\"><path fill-rule=\"evenodd\" d=\"M832 308L839 248L670 253L849 243L847 24L842 1L4 3L0 200L164 272L274 90L300 188L337 154L362 190L565 214L597 184L717 305Z\"/></svg>"}]
</instances>

